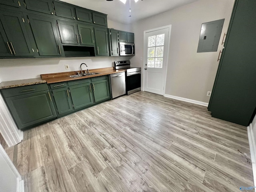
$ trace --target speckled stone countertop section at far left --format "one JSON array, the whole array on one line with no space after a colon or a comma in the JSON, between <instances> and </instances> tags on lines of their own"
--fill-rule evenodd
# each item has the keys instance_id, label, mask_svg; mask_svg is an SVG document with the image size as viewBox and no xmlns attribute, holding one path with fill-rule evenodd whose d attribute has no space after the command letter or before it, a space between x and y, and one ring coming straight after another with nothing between
<instances>
[{"instance_id":1,"label":"speckled stone countertop section at far left","mask_svg":"<svg viewBox=\"0 0 256 192\"><path fill-rule=\"evenodd\" d=\"M42 80L41 78L33 78L33 79L22 79L22 80L15 80L15 81L5 81L0 83L0 89L34 85L34 84L40 84L40 83L46 83L46 80Z\"/></svg>"}]
</instances>

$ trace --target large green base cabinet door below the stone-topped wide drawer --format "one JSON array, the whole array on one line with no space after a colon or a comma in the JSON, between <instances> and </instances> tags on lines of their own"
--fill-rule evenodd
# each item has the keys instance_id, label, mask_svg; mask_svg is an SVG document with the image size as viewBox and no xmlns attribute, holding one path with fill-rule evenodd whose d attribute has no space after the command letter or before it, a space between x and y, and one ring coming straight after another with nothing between
<instances>
[{"instance_id":1,"label":"large green base cabinet door below the stone-topped wide drawer","mask_svg":"<svg viewBox=\"0 0 256 192\"><path fill-rule=\"evenodd\" d=\"M19 129L56 118L49 91L5 98Z\"/></svg>"}]
</instances>

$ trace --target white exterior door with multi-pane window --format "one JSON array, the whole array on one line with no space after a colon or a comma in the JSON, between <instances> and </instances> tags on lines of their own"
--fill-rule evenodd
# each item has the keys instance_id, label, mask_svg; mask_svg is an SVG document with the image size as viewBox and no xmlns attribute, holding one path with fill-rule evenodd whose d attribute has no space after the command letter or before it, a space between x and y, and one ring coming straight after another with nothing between
<instances>
[{"instance_id":1,"label":"white exterior door with multi-pane window","mask_svg":"<svg viewBox=\"0 0 256 192\"><path fill-rule=\"evenodd\" d=\"M144 90L164 94L169 28L144 33Z\"/></svg>"}]
</instances>

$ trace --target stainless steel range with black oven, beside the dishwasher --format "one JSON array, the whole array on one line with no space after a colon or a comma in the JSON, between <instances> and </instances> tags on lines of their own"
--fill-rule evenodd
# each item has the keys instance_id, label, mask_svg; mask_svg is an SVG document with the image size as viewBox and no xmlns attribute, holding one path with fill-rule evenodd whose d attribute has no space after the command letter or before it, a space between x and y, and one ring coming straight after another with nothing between
<instances>
[{"instance_id":1,"label":"stainless steel range with black oven, beside the dishwasher","mask_svg":"<svg viewBox=\"0 0 256 192\"><path fill-rule=\"evenodd\" d=\"M126 94L141 90L141 67L131 67L130 61L115 61L115 68L125 70Z\"/></svg>"}]
</instances>

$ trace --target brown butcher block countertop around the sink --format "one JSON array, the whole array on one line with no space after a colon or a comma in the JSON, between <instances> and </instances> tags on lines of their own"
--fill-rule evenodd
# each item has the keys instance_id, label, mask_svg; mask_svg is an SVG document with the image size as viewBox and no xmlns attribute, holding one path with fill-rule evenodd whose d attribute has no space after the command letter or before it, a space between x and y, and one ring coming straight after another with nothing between
<instances>
[{"instance_id":1,"label":"brown butcher block countertop around the sink","mask_svg":"<svg viewBox=\"0 0 256 192\"><path fill-rule=\"evenodd\" d=\"M120 73L120 72L125 72L125 70L115 70L114 67L90 69L89 73L100 73L100 74L82 76L78 78L69 77L70 75L76 75L77 74L76 72L81 73L81 71L71 71L71 72L62 72L62 73L42 74L41 78L42 80L45 80L48 84L50 84L50 83L58 83L58 82L64 82L64 81L72 81L72 80L86 79L86 78L98 77L102 75Z\"/></svg>"}]
</instances>

